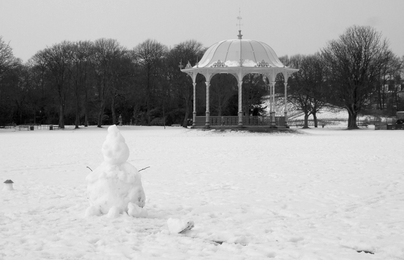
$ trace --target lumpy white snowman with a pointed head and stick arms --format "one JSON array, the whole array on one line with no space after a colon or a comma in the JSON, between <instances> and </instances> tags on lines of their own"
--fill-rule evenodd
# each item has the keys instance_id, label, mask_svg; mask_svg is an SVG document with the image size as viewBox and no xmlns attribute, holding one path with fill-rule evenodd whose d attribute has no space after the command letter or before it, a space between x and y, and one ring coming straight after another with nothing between
<instances>
[{"instance_id":1,"label":"lumpy white snowman with a pointed head and stick arms","mask_svg":"<svg viewBox=\"0 0 404 260\"><path fill-rule=\"evenodd\" d=\"M90 207L85 216L117 217L126 212L129 216L146 217L141 175L126 161L129 148L116 125L108 127L102 153L104 162L86 177Z\"/></svg>"}]
</instances>

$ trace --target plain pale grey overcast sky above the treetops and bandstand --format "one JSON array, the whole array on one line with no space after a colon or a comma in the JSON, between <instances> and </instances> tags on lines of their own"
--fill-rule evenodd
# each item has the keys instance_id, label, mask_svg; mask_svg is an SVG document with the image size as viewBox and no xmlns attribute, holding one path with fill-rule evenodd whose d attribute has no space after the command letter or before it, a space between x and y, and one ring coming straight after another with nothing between
<instances>
[{"instance_id":1,"label":"plain pale grey overcast sky above the treetops and bandstand","mask_svg":"<svg viewBox=\"0 0 404 260\"><path fill-rule=\"evenodd\" d=\"M404 0L0 0L0 35L24 61L63 40L101 37L128 48L147 38L209 47L237 38L239 8L243 39L265 42L278 56L315 53L354 24L373 26L404 55Z\"/></svg>"}]
</instances>

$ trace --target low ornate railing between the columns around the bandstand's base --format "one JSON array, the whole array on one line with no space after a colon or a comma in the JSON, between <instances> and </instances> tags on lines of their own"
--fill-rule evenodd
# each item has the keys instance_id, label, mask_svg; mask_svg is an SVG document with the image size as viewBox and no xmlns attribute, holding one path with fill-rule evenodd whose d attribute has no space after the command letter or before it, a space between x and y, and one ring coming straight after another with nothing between
<instances>
[{"instance_id":1,"label":"low ornate railing between the columns around the bandstand's base","mask_svg":"<svg viewBox=\"0 0 404 260\"><path fill-rule=\"evenodd\" d=\"M243 116L242 120L244 126L271 125L270 116ZM210 116L209 121L212 126L237 126L238 116ZM196 126L204 126L206 124L206 117L196 116L195 124ZM275 124L284 125L285 117L275 116Z\"/></svg>"}]
</instances>

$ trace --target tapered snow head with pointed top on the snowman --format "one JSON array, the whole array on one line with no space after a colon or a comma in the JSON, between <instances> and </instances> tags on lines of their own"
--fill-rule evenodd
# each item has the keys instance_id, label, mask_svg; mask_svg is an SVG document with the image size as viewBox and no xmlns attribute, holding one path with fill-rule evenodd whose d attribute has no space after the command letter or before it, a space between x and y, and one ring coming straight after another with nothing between
<instances>
[{"instance_id":1,"label":"tapered snow head with pointed top on the snowman","mask_svg":"<svg viewBox=\"0 0 404 260\"><path fill-rule=\"evenodd\" d=\"M109 164L121 164L128 160L129 148L115 124L108 127L107 140L105 140L101 151L104 160Z\"/></svg>"}]
</instances>

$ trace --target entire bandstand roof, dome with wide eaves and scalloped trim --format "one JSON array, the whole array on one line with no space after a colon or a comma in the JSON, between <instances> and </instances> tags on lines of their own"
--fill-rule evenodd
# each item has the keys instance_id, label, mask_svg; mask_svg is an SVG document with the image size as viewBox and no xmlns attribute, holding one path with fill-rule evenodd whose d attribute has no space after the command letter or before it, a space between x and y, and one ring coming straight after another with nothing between
<instances>
[{"instance_id":1,"label":"entire bandstand roof, dome with wide eaves and scalloped trim","mask_svg":"<svg viewBox=\"0 0 404 260\"><path fill-rule=\"evenodd\" d=\"M274 82L276 75L282 73L287 82L289 76L298 71L284 66L268 44L242 39L241 30L237 36L238 39L213 44L195 66L192 67L188 61L181 71L187 73L194 83L198 73L204 75L208 82L218 73L232 74L238 81L247 74L260 73Z\"/></svg>"}]
</instances>

